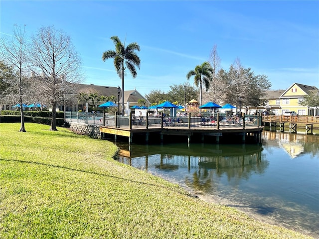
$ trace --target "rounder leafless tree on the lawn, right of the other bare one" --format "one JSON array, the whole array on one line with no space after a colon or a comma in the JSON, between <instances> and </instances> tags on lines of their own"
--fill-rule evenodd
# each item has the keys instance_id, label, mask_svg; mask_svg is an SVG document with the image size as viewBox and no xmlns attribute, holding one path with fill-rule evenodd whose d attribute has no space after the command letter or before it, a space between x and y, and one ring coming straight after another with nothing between
<instances>
[{"instance_id":1,"label":"rounder leafless tree on the lawn, right of the other bare one","mask_svg":"<svg viewBox=\"0 0 319 239\"><path fill-rule=\"evenodd\" d=\"M39 92L52 106L50 130L57 130L55 109L59 103L65 103L66 93L72 91L68 89L73 85L70 83L81 81L81 60L70 36L54 26L41 27L32 36L31 50L34 71L41 75Z\"/></svg>"}]
</instances>

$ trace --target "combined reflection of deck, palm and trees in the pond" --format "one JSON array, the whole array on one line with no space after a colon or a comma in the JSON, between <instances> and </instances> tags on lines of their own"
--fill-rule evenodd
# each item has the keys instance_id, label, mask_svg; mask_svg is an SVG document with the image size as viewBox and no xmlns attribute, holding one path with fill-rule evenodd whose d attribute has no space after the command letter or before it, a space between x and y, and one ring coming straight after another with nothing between
<instances>
[{"instance_id":1,"label":"combined reflection of deck, palm and trees in the pond","mask_svg":"<svg viewBox=\"0 0 319 239\"><path fill-rule=\"evenodd\" d=\"M169 144L121 146L119 161L157 174L184 177L184 184L196 192L212 192L222 177L233 185L262 174L268 161L262 161L258 145Z\"/></svg>"}]
</instances>

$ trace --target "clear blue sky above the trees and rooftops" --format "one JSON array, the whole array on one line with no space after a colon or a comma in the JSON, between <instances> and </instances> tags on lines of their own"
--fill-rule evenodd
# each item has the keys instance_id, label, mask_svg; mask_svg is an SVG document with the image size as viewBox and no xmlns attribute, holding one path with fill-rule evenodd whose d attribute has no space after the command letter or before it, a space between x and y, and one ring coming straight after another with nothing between
<instances>
[{"instance_id":1,"label":"clear blue sky above the trees and rooftops","mask_svg":"<svg viewBox=\"0 0 319 239\"><path fill-rule=\"evenodd\" d=\"M272 90L293 83L319 87L319 1L46 1L0 0L0 33L26 24L31 36L54 25L72 38L82 58L84 84L121 86L111 36L137 42L138 76L127 72L125 90L143 95L167 92L208 60L213 46L228 70L236 58L255 75L266 75ZM190 79L192 85L193 79Z\"/></svg>"}]
</instances>

